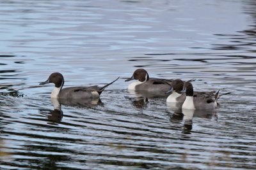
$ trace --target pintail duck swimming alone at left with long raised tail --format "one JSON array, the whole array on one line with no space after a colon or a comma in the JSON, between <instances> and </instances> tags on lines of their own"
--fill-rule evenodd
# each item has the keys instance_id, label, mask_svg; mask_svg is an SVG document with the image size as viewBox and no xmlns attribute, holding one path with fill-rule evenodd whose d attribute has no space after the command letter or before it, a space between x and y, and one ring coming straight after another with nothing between
<instances>
[{"instance_id":1,"label":"pintail duck swimming alone at left with long raised tail","mask_svg":"<svg viewBox=\"0 0 256 170\"><path fill-rule=\"evenodd\" d=\"M118 77L119 78L119 77ZM116 78L116 80L118 80ZM90 86L90 87L68 87L62 89L64 85L64 78L61 73L52 73L49 78L40 83L40 85L44 85L47 83L54 83L55 87L52 90L51 98L58 99L97 99L103 90L114 83L116 80L104 85L103 87Z\"/></svg>"}]
</instances>

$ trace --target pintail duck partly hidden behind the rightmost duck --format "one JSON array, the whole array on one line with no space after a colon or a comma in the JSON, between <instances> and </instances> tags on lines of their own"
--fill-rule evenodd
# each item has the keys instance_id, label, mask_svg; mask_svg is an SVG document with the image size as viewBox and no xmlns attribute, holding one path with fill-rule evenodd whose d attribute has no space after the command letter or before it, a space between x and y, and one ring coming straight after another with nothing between
<instances>
[{"instance_id":1,"label":"pintail duck partly hidden behind the rightmost duck","mask_svg":"<svg viewBox=\"0 0 256 170\"><path fill-rule=\"evenodd\" d=\"M194 81L194 80L195 79L191 79L191 80L189 80L189 82ZM184 103L184 101L186 99L186 94L181 92L183 90L184 82L186 82L186 81L182 81L180 79L175 79L172 81L172 85L171 85L172 89L170 89L168 92L166 92L166 93L172 92L172 94L170 94L170 96L168 96L166 99L167 103ZM216 94L216 91L194 92L194 96L195 95L212 96L214 94Z\"/></svg>"}]
</instances>

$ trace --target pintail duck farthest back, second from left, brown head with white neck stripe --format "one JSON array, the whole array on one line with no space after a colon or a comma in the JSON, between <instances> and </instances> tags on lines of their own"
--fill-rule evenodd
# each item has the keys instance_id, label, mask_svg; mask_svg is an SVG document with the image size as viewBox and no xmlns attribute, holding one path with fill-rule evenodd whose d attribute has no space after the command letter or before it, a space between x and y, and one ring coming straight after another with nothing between
<instances>
[{"instance_id":1,"label":"pintail duck farthest back, second from left, brown head with white neck stripe","mask_svg":"<svg viewBox=\"0 0 256 170\"><path fill-rule=\"evenodd\" d=\"M165 94L172 83L172 80L162 78L149 78L145 69L136 69L131 78L125 81L137 80L128 85L128 90L161 92Z\"/></svg>"}]
</instances>

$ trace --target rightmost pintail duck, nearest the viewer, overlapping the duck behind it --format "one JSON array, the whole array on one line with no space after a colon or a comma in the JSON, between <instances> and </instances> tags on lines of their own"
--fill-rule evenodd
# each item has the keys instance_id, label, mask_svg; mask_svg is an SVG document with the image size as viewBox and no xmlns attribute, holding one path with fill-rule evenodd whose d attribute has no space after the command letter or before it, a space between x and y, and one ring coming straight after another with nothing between
<instances>
[{"instance_id":1,"label":"rightmost pintail duck, nearest the viewer, overlapping the duck behind it","mask_svg":"<svg viewBox=\"0 0 256 170\"><path fill-rule=\"evenodd\" d=\"M182 110L214 110L217 108L217 99L219 98L219 92L209 94L195 94L193 85L189 81L186 81L181 92L186 92L186 99L182 104Z\"/></svg>"}]
</instances>

